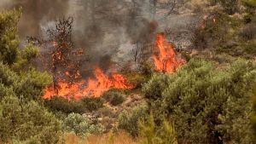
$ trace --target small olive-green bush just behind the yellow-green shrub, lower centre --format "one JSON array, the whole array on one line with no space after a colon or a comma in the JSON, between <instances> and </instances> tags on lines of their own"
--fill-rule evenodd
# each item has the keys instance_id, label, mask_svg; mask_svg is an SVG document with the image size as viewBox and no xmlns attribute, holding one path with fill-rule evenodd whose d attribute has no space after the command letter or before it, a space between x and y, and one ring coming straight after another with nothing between
<instances>
[{"instance_id":1,"label":"small olive-green bush just behind the yellow-green shrub, lower centre","mask_svg":"<svg viewBox=\"0 0 256 144\"><path fill-rule=\"evenodd\" d=\"M148 117L148 107L145 104L133 108L131 111L124 111L119 114L118 129L125 130L132 136L138 135L138 122Z\"/></svg>"}]
</instances>

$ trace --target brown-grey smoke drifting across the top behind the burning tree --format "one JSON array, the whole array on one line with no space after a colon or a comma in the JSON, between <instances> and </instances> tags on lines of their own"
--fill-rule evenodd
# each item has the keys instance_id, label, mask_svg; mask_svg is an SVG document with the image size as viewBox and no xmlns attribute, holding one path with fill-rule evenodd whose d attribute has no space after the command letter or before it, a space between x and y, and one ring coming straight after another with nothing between
<instances>
[{"instance_id":1,"label":"brown-grey smoke drifting across the top behind the burning tree","mask_svg":"<svg viewBox=\"0 0 256 144\"><path fill-rule=\"evenodd\" d=\"M1 9L22 7L19 32L26 37L44 36L58 18L73 16L73 42L85 49L88 71L94 66L106 70L113 61L131 60L136 43L153 43L156 32L187 25L189 18L177 14L163 17L154 12L152 0L0 0ZM183 1L181 1L183 2ZM166 8L169 9L169 8ZM176 16L176 17L175 17Z\"/></svg>"}]
</instances>

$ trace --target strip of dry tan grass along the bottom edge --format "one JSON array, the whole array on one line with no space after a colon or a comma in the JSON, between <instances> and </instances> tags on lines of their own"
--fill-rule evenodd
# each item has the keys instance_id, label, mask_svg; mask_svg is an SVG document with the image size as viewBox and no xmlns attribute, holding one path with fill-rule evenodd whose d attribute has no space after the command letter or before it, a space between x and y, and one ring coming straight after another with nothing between
<instances>
[{"instance_id":1,"label":"strip of dry tan grass along the bottom edge","mask_svg":"<svg viewBox=\"0 0 256 144\"><path fill-rule=\"evenodd\" d=\"M113 135L112 133L106 135L91 135L86 140L79 138L76 135L66 135L65 144L137 144L131 136L124 132Z\"/></svg>"}]
</instances>

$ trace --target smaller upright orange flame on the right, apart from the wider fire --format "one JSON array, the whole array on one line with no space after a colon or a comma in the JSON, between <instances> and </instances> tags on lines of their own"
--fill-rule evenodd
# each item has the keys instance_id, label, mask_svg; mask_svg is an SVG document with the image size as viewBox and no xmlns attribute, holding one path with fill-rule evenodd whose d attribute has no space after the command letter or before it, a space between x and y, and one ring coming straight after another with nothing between
<instances>
[{"instance_id":1,"label":"smaller upright orange flame on the right, apart from the wider fire","mask_svg":"<svg viewBox=\"0 0 256 144\"><path fill-rule=\"evenodd\" d=\"M159 55L153 55L156 71L173 73L186 62L176 54L172 43L167 42L163 34L157 35L155 44L159 50Z\"/></svg>"}]
</instances>

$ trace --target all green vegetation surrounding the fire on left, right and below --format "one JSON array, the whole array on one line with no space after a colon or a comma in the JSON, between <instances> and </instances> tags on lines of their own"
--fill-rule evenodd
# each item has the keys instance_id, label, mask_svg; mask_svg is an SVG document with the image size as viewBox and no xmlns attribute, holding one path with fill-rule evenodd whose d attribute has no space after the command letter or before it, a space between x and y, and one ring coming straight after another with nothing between
<instances>
[{"instance_id":1,"label":"all green vegetation surrounding the fire on left, right and below","mask_svg":"<svg viewBox=\"0 0 256 144\"><path fill-rule=\"evenodd\" d=\"M85 139L104 133L113 143L122 130L142 144L256 143L256 1L209 4L214 9L195 30L198 53L186 55L188 63L177 72L153 72L148 63L142 72L124 72L137 86L131 91L145 102L119 115L110 108L123 108L131 91L112 89L80 101L42 100L53 80L33 67L35 46L20 48L21 10L1 12L0 143L63 143L66 135ZM111 130L88 117L90 112L116 118Z\"/></svg>"}]
</instances>

